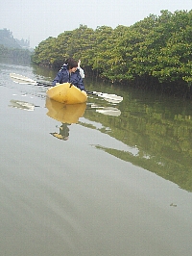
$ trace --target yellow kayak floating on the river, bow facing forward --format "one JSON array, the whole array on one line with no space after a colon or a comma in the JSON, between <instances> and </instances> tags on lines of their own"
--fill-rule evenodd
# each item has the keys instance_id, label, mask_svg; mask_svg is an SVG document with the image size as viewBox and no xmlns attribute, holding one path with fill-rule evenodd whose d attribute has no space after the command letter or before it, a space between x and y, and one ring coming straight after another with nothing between
<instances>
[{"instance_id":1,"label":"yellow kayak floating on the river, bow facing forward","mask_svg":"<svg viewBox=\"0 0 192 256\"><path fill-rule=\"evenodd\" d=\"M56 84L55 87L47 90L47 95L50 99L64 104L84 103L87 99L85 91L79 90L69 83Z\"/></svg>"}]
</instances>

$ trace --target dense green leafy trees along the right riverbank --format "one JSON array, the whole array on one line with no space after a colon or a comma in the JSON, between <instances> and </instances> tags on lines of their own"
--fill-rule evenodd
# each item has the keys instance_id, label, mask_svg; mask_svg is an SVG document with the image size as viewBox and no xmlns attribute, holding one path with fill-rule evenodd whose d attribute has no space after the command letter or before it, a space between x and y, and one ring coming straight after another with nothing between
<instances>
[{"instance_id":1,"label":"dense green leafy trees along the right riverbank","mask_svg":"<svg viewBox=\"0 0 192 256\"><path fill-rule=\"evenodd\" d=\"M85 71L111 81L154 79L191 86L192 11L161 11L115 29L80 25L41 41L33 62L59 67L68 57L81 58Z\"/></svg>"}]
</instances>

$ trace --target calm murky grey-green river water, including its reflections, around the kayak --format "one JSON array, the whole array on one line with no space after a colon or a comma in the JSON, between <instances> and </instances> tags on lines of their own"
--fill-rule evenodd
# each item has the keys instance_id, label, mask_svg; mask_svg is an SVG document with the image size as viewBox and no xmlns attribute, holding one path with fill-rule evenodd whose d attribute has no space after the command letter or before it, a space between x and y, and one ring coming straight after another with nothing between
<instances>
[{"instance_id":1,"label":"calm murky grey-green river water, including its reflections, around the kayak","mask_svg":"<svg viewBox=\"0 0 192 256\"><path fill-rule=\"evenodd\" d=\"M84 80L116 93L54 104L35 67L0 64L0 248L6 256L192 252L192 103Z\"/></svg>"}]
</instances>

